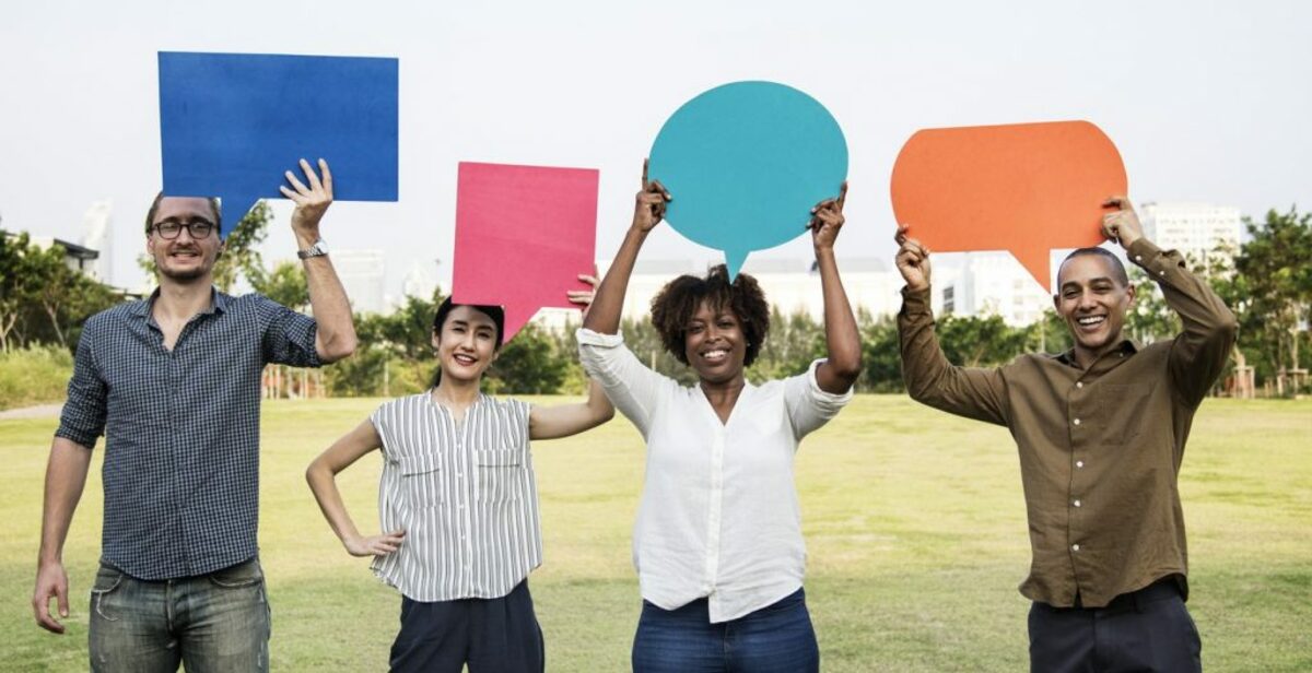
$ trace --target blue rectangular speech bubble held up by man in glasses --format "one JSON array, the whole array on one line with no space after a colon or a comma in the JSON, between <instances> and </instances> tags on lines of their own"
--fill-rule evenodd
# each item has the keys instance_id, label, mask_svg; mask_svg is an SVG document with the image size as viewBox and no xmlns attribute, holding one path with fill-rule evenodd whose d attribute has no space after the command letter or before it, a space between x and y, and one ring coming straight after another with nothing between
<instances>
[{"instance_id":1,"label":"blue rectangular speech bubble held up by man in glasses","mask_svg":"<svg viewBox=\"0 0 1312 673\"><path fill-rule=\"evenodd\" d=\"M222 235L300 159L336 201L396 201L396 59L160 51L159 72L164 193L219 197Z\"/></svg>"}]
</instances>

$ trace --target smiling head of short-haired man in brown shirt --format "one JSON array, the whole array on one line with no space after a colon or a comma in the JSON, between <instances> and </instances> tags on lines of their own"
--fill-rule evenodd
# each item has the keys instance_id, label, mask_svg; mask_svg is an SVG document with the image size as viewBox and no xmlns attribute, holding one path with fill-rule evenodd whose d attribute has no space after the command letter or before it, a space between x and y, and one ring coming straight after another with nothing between
<instances>
[{"instance_id":1,"label":"smiling head of short-haired man in brown shirt","mask_svg":"<svg viewBox=\"0 0 1312 673\"><path fill-rule=\"evenodd\" d=\"M1052 303L1075 336L1076 359L1088 366L1120 342L1135 289L1117 273L1115 260L1078 255L1061 262Z\"/></svg>"}]
</instances>

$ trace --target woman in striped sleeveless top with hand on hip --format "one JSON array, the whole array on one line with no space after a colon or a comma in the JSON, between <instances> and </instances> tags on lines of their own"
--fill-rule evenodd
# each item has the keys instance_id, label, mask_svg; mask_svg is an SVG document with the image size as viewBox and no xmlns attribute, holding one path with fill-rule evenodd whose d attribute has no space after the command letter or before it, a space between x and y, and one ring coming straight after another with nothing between
<instances>
[{"instance_id":1,"label":"woman in striped sleeveless top with hand on hip","mask_svg":"<svg viewBox=\"0 0 1312 673\"><path fill-rule=\"evenodd\" d=\"M592 291L569 298L586 306ZM543 670L526 580L542 563L529 439L588 430L610 420L614 407L596 383L586 401L556 407L479 392L502 328L500 307L443 302L433 319L433 388L384 403L306 471L346 551L374 556L374 573L401 593L392 670ZM384 460L383 533L362 535L336 475L374 449Z\"/></svg>"}]
</instances>

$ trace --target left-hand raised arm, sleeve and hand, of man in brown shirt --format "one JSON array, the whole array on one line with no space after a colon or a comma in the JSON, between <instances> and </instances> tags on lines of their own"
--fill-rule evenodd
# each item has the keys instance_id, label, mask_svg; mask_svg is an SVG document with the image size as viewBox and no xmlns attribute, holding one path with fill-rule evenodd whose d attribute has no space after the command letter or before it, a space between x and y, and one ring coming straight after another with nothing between
<instances>
[{"instance_id":1,"label":"left-hand raised arm, sleeve and hand, of man in brown shirt","mask_svg":"<svg viewBox=\"0 0 1312 673\"><path fill-rule=\"evenodd\" d=\"M895 237L897 272L907 281L897 314L907 392L935 409L1006 425L1006 391L998 370L954 366L943 356L930 310L929 249L907 234L908 227L903 224Z\"/></svg>"}]
</instances>

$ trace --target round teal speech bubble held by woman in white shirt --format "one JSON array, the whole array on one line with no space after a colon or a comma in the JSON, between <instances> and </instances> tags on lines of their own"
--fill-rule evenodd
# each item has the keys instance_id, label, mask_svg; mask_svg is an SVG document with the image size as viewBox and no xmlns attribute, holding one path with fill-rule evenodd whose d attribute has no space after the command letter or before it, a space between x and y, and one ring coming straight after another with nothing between
<instances>
[{"instance_id":1,"label":"round teal speech bubble held by woman in white shirt","mask_svg":"<svg viewBox=\"0 0 1312 673\"><path fill-rule=\"evenodd\" d=\"M674 197L665 211L674 231L724 251L732 279L748 253L802 235L811 209L838 195L848 142L811 96L773 81L735 81L665 121L648 176Z\"/></svg>"}]
</instances>

